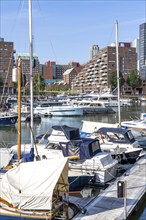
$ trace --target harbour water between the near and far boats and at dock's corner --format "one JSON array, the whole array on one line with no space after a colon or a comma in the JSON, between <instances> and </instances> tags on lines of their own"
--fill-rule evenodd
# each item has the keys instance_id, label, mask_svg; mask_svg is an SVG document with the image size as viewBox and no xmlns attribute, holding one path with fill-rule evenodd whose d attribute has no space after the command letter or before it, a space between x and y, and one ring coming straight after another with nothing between
<instances>
[{"instance_id":1,"label":"harbour water between the near and far boats and at dock's corner","mask_svg":"<svg viewBox=\"0 0 146 220\"><path fill-rule=\"evenodd\" d=\"M116 109L117 111L117 109ZM130 107L121 108L121 120L130 120L132 118L140 117L142 112L146 112L146 105L134 105ZM52 117L42 118L41 123L34 123L34 137L51 131L53 125L68 125L72 127L81 127L82 120L118 123L118 113L109 115L94 115L82 117ZM29 123L22 123L21 127L21 141L22 143L30 143L30 125ZM0 127L0 147L10 147L17 144L17 124L15 127ZM131 220L145 220L146 219L146 201L141 205L140 210L132 216Z\"/></svg>"}]
</instances>

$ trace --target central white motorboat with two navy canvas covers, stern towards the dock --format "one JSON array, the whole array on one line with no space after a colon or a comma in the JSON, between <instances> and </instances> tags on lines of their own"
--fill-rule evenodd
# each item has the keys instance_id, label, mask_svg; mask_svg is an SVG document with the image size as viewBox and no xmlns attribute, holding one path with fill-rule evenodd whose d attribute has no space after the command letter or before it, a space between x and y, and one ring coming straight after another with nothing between
<instances>
[{"instance_id":1,"label":"central white motorboat with two navy canvas covers, stern towards the dock","mask_svg":"<svg viewBox=\"0 0 146 220\"><path fill-rule=\"evenodd\" d=\"M76 157L76 164L70 161L70 169L84 172L86 175L96 176L96 182L105 184L116 176L117 161L112 160L111 155L101 151L99 141L96 139L86 139L80 137L79 128L63 126L52 126L52 132L48 137L47 148L54 145L62 145L67 152L64 156ZM76 150L73 149L75 146ZM70 150L69 150L70 149ZM51 154L50 154L51 155ZM73 159L74 160L74 159ZM88 165L88 170L86 167Z\"/></svg>"}]
</instances>

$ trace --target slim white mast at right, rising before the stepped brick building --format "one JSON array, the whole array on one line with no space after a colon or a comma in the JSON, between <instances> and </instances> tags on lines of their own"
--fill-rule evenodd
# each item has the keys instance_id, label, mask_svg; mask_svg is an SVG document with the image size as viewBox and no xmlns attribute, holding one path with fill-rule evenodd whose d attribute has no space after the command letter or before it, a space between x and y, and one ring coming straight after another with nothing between
<instances>
[{"instance_id":1,"label":"slim white mast at right, rising before the stepped brick building","mask_svg":"<svg viewBox=\"0 0 146 220\"><path fill-rule=\"evenodd\" d=\"M117 88L118 88L118 119L119 119L119 126L121 126L118 21L116 21L116 62L117 62Z\"/></svg>"}]
</instances>

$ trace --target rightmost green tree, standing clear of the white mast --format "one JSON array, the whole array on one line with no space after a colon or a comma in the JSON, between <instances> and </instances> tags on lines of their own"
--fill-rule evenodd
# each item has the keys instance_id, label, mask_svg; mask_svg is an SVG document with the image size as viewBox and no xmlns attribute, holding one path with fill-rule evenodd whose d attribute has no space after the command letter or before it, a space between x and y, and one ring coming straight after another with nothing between
<instances>
[{"instance_id":1,"label":"rightmost green tree, standing clear of the white mast","mask_svg":"<svg viewBox=\"0 0 146 220\"><path fill-rule=\"evenodd\" d=\"M131 70L129 72L126 83L132 87L132 90L135 93L135 88L141 86L141 79L137 70Z\"/></svg>"}]
</instances>

